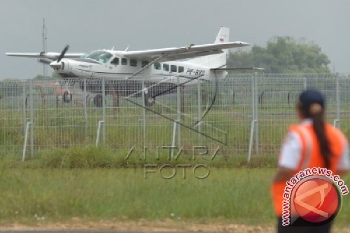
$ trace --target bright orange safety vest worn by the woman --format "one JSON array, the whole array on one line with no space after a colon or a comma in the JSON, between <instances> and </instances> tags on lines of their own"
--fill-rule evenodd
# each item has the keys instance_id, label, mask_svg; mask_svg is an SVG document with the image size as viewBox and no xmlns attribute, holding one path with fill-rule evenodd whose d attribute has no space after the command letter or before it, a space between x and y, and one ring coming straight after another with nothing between
<instances>
[{"instance_id":1,"label":"bright orange safety vest worn by the woman","mask_svg":"<svg viewBox=\"0 0 350 233\"><path fill-rule=\"evenodd\" d=\"M301 160L294 174L306 168L325 167L325 162L320 152L320 147L316 134L310 125L292 125L289 131L296 133L301 140ZM347 140L344 134L330 124L325 125L325 133L330 144L332 152L330 158L330 170L333 174L336 173L339 159L341 158L344 147L347 145ZM282 201L283 192L286 187L286 181L273 182L271 186L272 200L274 210L277 216L282 216Z\"/></svg>"}]
</instances>

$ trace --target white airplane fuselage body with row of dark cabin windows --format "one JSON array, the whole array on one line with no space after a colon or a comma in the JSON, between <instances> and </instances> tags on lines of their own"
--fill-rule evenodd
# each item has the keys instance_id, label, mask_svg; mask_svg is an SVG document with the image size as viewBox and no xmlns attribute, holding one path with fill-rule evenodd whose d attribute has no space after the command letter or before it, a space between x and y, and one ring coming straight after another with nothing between
<instances>
[{"instance_id":1,"label":"white airplane fuselage body with row of dark cabin windows","mask_svg":"<svg viewBox=\"0 0 350 233\"><path fill-rule=\"evenodd\" d=\"M89 58L89 54L93 53L105 53L107 59ZM114 79L137 79L137 75L135 75L135 77L130 76L144 68L138 75L148 77L147 81L159 82L164 79L169 79L168 81L173 83L177 82L177 79L174 78L176 76L179 76L180 82L188 81L188 78L183 78L181 76L197 77L199 75L203 76L201 80L207 79L209 81L210 74L213 74L209 67L191 64L186 61L155 62L149 65L151 62L150 60L130 59L123 56L122 51L99 50L89 54L77 59L64 58L60 61L63 65L55 69L55 71L64 78L105 77ZM90 55L90 57L94 56ZM145 67L147 65L148 67ZM224 78L226 72L218 72L217 75L217 78ZM192 82L186 84L191 85Z\"/></svg>"}]
</instances>

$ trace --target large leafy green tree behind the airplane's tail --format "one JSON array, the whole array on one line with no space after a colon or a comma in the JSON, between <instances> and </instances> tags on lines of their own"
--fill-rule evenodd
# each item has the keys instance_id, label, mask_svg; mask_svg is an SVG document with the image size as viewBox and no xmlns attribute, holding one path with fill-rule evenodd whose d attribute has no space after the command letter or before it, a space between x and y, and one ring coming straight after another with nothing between
<instances>
[{"instance_id":1,"label":"large leafy green tree behind the airplane's tail","mask_svg":"<svg viewBox=\"0 0 350 233\"><path fill-rule=\"evenodd\" d=\"M263 67L265 73L329 73L330 61L321 47L292 37L273 37L266 48L254 45L251 51L229 54L229 67Z\"/></svg>"}]
</instances>

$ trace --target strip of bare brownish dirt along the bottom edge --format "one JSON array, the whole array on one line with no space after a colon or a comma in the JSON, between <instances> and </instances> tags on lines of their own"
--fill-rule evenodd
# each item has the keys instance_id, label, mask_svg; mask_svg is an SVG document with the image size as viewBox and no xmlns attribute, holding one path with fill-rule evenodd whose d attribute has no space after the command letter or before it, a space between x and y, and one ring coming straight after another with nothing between
<instances>
[{"instance_id":1,"label":"strip of bare brownish dirt along the bottom edge","mask_svg":"<svg viewBox=\"0 0 350 233\"><path fill-rule=\"evenodd\" d=\"M234 232L234 233L274 233L273 226L248 226L228 223L187 223L173 220L163 221L80 221L70 223L38 223L35 225L1 224L1 230L112 230L137 232ZM350 233L350 229L333 229L336 233Z\"/></svg>"}]
</instances>

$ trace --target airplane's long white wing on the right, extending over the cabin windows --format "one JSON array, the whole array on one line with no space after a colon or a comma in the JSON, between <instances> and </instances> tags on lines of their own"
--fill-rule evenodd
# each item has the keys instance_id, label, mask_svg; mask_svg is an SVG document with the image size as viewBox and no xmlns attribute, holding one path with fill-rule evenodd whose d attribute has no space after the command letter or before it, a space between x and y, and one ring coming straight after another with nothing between
<instances>
[{"instance_id":1,"label":"airplane's long white wing on the right, extending over the cabin windows","mask_svg":"<svg viewBox=\"0 0 350 233\"><path fill-rule=\"evenodd\" d=\"M160 56L158 61L172 61L179 59L188 59L200 56L207 56L211 54L222 53L223 49L231 49L236 47L248 46L250 44L236 41L236 42L226 42L219 44L203 44L203 45L190 45L166 49L151 49L151 50L140 50L140 51L130 51L124 52L124 56L134 59L145 59L153 60Z\"/></svg>"}]
</instances>

